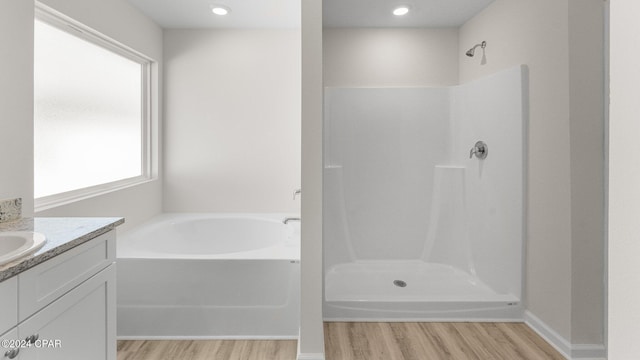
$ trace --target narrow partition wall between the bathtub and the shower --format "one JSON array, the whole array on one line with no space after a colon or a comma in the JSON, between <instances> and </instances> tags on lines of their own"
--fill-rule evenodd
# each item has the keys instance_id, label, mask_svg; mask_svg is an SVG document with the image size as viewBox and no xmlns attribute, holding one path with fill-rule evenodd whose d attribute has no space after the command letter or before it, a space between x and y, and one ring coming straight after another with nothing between
<instances>
[{"instance_id":1,"label":"narrow partition wall between the bathtub and the shower","mask_svg":"<svg viewBox=\"0 0 640 360\"><path fill-rule=\"evenodd\" d=\"M302 0L302 228L298 360L324 359L322 325L322 0Z\"/></svg>"}]
</instances>

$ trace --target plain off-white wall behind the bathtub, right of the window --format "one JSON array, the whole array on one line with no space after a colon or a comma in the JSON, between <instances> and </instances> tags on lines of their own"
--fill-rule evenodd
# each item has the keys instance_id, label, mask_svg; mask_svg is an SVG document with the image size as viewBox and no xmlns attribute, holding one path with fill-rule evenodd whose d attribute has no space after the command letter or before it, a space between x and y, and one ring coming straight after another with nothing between
<instances>
[{"instance_id":1,"label":"plain off-white wall behind the bathtub, right of the window","mask_svg":"<svg viewBox=\"0 0 640 360\"><path fill-rule=\"evenodd\" d=\"M165 31L169 212L299 212L300 31Z\"/></svg>"}]
</instances>

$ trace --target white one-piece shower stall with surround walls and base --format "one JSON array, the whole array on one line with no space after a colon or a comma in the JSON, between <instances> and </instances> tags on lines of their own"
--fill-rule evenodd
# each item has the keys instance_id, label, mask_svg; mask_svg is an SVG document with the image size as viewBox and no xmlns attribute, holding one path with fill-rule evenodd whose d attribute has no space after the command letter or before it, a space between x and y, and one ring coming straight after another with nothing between
<instances>
[{"instance_id":1,"label":"white one-piece shower stall with surround walls and base","mask_svg":"<svg viewBox=\"0 0 640 360\"><path fill-rule=\"evenodd\" d=\"M526 88L325 89L325 319L522 319Z\"/></svg>"}]
</instances>

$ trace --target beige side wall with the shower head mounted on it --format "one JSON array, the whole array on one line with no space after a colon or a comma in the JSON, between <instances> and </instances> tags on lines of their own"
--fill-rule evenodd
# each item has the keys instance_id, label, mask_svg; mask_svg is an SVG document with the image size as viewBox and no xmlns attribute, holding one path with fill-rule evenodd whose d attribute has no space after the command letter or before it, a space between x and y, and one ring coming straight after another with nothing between
<instances>
[{"instance_id":1,"label":"beige side wall with the shower head mounted on it","mask_svg":"<svg viewBox=\"0 0 640 360\"><path fill-rule=\"evenodd\" d=\"M460 81L529 67L527 309L571 338L567 0L496 0L460 30ZM465 49L487 41L486 65Z\"/></svg>"}]
</instances>

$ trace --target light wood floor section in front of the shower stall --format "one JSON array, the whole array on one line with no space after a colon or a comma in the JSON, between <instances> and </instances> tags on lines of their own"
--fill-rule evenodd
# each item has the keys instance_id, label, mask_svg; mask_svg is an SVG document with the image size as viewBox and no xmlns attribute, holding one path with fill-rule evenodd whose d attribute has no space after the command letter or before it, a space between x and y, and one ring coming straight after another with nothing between
<instances>
[{"instance_id":1,"label":"light wood floor section in front of the shower stall","mask_svg":"<svg viewBox=\"0 0 640 360\"><path fill-rule=\"evenodd\" d=\"M325 352L327 360L564 359L522 323L325 323Z\"/></svg>"}]
</instances>

